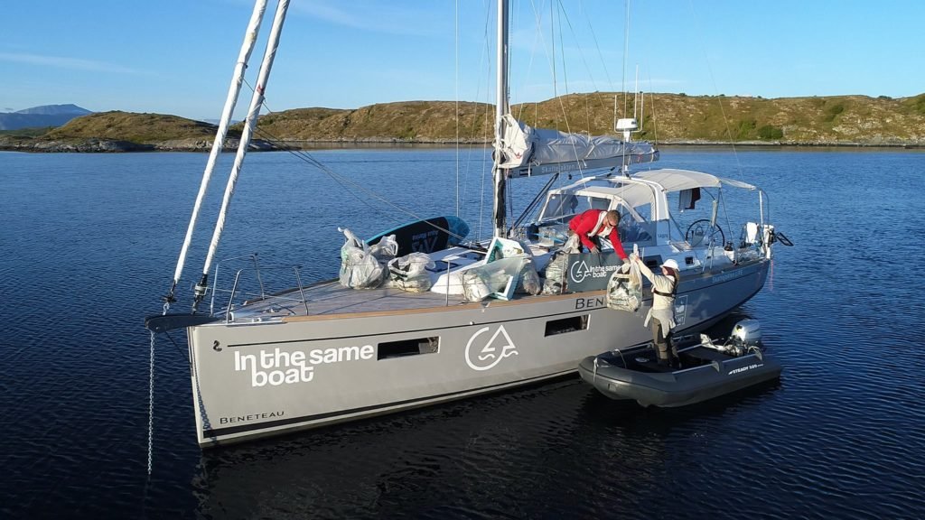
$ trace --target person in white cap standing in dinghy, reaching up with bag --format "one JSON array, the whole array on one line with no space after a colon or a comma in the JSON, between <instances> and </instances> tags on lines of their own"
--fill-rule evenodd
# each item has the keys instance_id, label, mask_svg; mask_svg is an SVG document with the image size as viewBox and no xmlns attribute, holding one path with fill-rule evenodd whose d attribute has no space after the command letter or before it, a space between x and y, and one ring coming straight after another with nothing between
<instances>
[{"instance_id":1,"label":"person in white cap standing in dinghy, reaching up with bag","mask_svg":"<svg viewBox=\"0 0 925 520\"><path fill-rule=\"evenodd\" d=\"M643 327L651 322L652 342L655 343L656 353L659 355L659 365L671 365L679 368L678 349L672 343L672 328L674 328L674 295L678 291L678 282L681 281L678 263L672 258L665 260L661 265L661 274L657 275L643 263L639 255L633 255L633 261L639 266L639 271L652 282L652 308L648 310Z\"/></svg>"}]
</instances>

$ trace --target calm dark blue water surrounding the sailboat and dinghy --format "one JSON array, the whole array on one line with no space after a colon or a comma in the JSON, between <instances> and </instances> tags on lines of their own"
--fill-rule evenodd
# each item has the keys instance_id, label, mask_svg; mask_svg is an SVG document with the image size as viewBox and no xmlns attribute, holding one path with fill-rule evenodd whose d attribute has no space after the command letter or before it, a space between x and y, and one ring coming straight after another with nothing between
<instances>
[{"instance_id":1,"label":"calm dark blue water surrounding the sailboat and dinghy","mask_svg":"<svg viewBox=\"0 0 925 520\"><path fill-rule=\"evenodd\" d=\"M314 155L420 216L455 213L451 150ZM575 377L201 452L174 334L179 347L155 344L148 481L142 320L160 312L204 162L0 154L0 517L925 517L925 154L663 151L660 166L764 188L796 242L742 309L780 382L663 411ZM460 165L462 216L476 223L487 165L480 151ZM219 257L260 252L330 278L337 226L364 236L413 218L290 155L247 166ZM517 194L537 186L524 184ZM194 248L182 298L202 261Z\"/></svg>"}]
</instances>

